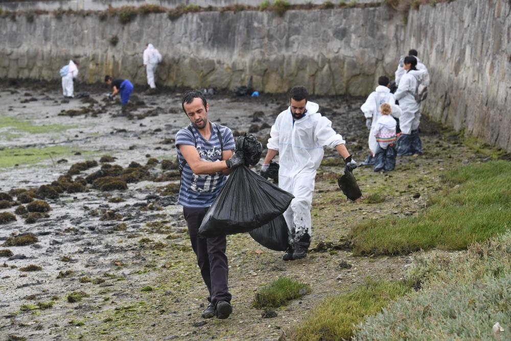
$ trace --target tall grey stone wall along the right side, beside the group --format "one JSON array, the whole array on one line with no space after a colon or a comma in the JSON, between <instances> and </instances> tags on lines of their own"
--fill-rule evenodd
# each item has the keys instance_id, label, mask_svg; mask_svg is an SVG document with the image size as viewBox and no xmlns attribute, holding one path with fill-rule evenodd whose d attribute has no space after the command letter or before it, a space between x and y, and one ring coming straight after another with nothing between
<instances>
[{"instance_id":1,"label":"tall grey stone wall along the right side, beside the group","mask_svg":"<svg viewBox=\"0 0 511 341\"><path fill-rule=\"evenodd\" d=\"M510 13L507 0L421 6L409 13L404 47L428 66L429 117L511 152Z\"/></svg>"}]
</instances>

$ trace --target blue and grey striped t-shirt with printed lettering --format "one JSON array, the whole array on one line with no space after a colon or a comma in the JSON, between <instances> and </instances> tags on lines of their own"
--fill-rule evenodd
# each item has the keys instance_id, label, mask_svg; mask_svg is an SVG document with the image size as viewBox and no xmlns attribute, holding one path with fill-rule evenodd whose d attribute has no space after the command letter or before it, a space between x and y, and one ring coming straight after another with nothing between
<instances>
[{"instance_id":1,"label":"blue and grey striped t-shirt with printed lettering","mask_svg":"<svg viewBox=\"0 0 511 341\"><path fill-rule=\"evenodd\" d=\"M223 150L234 150L235 143L233 132L220 124L211 122L210 140L206 141L197 131L195 126L190 124L192 132L187 127L182 128L176 134L176 148L179 164L184 161L179 151L179 145L195 146L202 161L216 162L222 160L222 147L218 140L218 129L223 140ZM225 184L223 173L195 174L187 163L181 174L181 188L179 189L178 203L188 208L210 207Z\"/></svg>"}]
</instances>

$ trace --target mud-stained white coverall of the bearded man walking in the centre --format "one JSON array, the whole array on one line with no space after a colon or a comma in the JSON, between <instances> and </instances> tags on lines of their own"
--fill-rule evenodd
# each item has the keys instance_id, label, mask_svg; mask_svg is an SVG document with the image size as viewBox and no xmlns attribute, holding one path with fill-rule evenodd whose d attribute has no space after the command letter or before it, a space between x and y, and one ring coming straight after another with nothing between
<instances>
[{"instance_id":1,"label":"mud-stained white coverall of the bearded man walking in the centre","mask_svg":"<svg viewBox=\"0 0 511 341\"><path fill-rule=\"evenodd\" d=\"M307 102L305 116L294 121L291 108L281 112L271 127L268 149L278 150L278 187L294 195L284 218L296 242L305 233L311 236L311 206L316 170L323 158L323 146L344 144L322 117L319 105ZM294 233L293 233L294 232Z\"/></svg>"}]
</instances>

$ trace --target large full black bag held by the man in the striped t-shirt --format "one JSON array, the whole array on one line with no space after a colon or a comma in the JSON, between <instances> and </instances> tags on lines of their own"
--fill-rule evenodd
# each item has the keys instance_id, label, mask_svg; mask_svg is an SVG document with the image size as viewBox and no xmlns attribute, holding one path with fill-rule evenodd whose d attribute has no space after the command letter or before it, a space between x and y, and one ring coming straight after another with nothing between
<instances>
[{"instance_id":1,"label":"large full black bag held by the man in the striped t-shirt","mask_svg":"<svg viewBox=\"0 0 511 341\"><path fill-rule=\"evenodd\" d=\"M294 196L245 166L236 167L207 211L201 238L244 233L283 214Z\"/></svg>"}]
</instances>

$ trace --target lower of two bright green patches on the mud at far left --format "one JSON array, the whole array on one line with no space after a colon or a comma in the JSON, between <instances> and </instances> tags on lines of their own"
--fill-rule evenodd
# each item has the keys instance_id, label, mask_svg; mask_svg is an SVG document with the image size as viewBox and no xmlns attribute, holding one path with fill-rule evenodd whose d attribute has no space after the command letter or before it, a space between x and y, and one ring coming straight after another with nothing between
<instances>
[{"instance_id":1,"label":"lower of two bright green patches on the mud at far left","mask_svg":"<svg viewBox=\"0 0 511 341\"><path fill-rule=\"evenodd\" d=\"M0 168L13 167L15 165L35 164L48 158L72 154L69 147L53 146L46 148L5 148L0 149Z\"/></svg>"}]
</instances>

